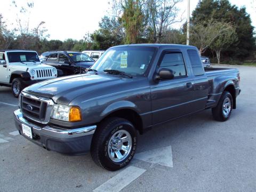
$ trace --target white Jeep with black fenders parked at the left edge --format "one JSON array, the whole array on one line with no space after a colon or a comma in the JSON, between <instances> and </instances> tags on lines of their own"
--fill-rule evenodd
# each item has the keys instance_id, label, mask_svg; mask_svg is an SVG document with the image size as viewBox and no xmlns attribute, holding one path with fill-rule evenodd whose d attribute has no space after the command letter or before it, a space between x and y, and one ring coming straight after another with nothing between
<instances>
[{"instance_id":1,"label":"white Jeep with black fenders parked at the left edge","mask_svg":"<svg viewBox=\"0 0 256 192\"><path fill-rule=\"evenodd\" d=\"M12 87L14 97L26 86L57 76L57 69L42 64L35 51L0 50L0 86Z\"/></svg>"}]
</instances>

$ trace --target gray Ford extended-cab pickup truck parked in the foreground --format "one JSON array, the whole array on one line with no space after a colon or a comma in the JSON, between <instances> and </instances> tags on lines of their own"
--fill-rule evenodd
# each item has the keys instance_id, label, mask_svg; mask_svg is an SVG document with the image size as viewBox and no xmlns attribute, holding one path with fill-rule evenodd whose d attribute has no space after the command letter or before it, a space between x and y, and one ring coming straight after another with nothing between
<instances>
[{"instance_id":1,"label":"gray Ford extended-cab pickup truck parked in the foreground","mask_svg":"<svg viewBox=\"0 0 256 192\"><path fill-rule=\"evenodd\" d=\"M214 119L226 121L239 81L237 69L204 69L194 46L115 46L87 74L24 89L15 125L47 150L91 151L96 164L114 171L132 160L137 132L210 108Z\"/></svg>"}]
</instances>

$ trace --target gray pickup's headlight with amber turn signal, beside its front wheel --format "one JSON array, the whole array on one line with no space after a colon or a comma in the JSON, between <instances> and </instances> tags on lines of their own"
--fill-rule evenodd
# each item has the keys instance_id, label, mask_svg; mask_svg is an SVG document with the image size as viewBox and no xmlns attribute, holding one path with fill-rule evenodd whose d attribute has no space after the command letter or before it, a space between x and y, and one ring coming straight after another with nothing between
<instances>
[{"instance_id":1,"label":"gray pickup's headlight with amber turn signal, beside its front wheel","mask_svg":"<svg viewBox=\"0 0 256 192\"><path fill-rule=\"evenodd\" d=\"M52 110L52 118L66 122L81 121L81 110L79 107L55 104Z\"/></svg>"}]
</instances>

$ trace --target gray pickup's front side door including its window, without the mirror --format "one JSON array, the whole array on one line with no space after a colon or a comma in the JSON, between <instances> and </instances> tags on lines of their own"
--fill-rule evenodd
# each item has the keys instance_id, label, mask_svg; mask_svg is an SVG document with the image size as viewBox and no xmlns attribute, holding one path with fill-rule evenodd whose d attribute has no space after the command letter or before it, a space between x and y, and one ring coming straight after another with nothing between
<instances>
[{"instance_id":1,"label":"gray pickup's front side door including its window, without the mirror","mask_svg":"<svg viewBox=\"0 0 256 192\"><path fill-rule=\"evenodd\" d=\"M150 86L153 124L198 110L196 103L201 98L195 98L194 78L188 74L182 52L164 51L157 67L173 70L174 78L164 79Z\"/></svg>"}]
</instances>

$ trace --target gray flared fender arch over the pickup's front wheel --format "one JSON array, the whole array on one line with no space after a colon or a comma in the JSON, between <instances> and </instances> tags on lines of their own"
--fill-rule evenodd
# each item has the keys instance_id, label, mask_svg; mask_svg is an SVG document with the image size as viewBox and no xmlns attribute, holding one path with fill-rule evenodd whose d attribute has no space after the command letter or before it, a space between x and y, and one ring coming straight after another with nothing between
<instances>
[{"instance_id":1,"label":"gray flared fender arch over the pickup's front wheel","mask_svg":"<svg viewBox=\"0 0 256 192\"><path fill-rule=\"evenodd\" d=\"M107 106L102 113L100 114L101 118L104 118L108 116L110 113L113 113L120 109L132 109L138 114L140 114L139 108L135 105L135 103L131 101L117 101L114 103L111 103L109 106Z\"/></svg>"}]
</instances>

